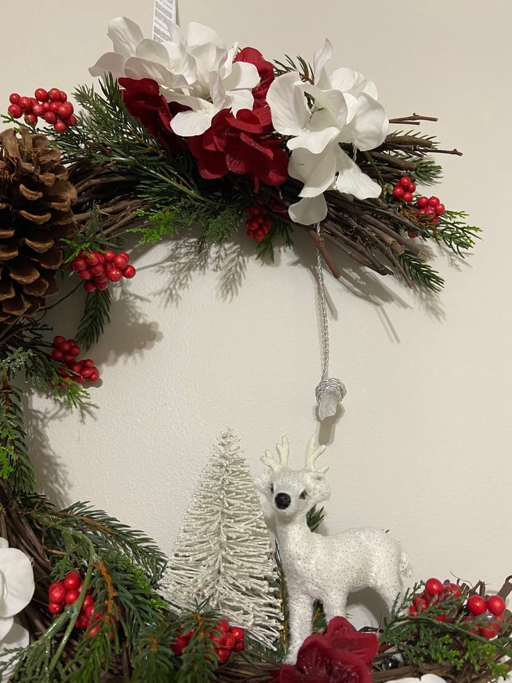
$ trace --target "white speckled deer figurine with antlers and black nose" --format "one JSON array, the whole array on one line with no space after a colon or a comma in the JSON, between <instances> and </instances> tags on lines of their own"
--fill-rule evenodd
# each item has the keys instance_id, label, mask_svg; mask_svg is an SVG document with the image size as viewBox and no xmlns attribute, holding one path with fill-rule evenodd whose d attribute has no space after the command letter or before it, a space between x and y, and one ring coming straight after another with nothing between
<instances>
[{"instance_id":1,"label":"white speckled deer figurine with antlers and black nose","mask_svg":"<svg viewBox=\"0 0 512 683\"><path fill-rule=\"evenodd\" d=\"M286 437L278 444L276 461L269 450L262 462L269 467L264 480L266 495L277 520L279 552L285 570L289 599L289 651L286 661L296 661L299 647L311 634L313 604L323 603L327 620L345 615L349 593L374 588L388 608L402 589L402 576L410 576L408 557L399 543L384 531L348 529L337 536L312 533L307 511L329 497L325 481L328 467L315 468L325 446L307 444L305 467L288 467Z\"/></svg>"}]
</instances>

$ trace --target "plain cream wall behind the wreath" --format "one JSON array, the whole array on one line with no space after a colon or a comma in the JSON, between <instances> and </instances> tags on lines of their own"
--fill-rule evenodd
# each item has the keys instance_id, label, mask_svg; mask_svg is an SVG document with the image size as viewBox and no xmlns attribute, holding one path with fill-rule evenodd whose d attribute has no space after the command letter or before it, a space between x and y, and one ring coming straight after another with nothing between
<instances>
[{"instance_id":1,"label":"plain cream wall behind the wreath","mask_svg":"<svg viewBox=\"0 0 512 683\"><path fill-rule=\"evenodd\" d=\"M3 0L2 9L14 26L19 3ZM120 13L149 32L150 0L24 3L31 21L17 22L22 38L3 36L0 102L13 90L88 81ZM485 233L465 262L435 258L447 283L440 299L341 254L342 281L326 278L331 372L349 391L343 416L321 431L333 489L326 527L389 528L415 576L501 585L512 571L511 4L189 0L179 14L269 58L310 58L329 36L335 65L374 79L390 116L438 116L424 129L465 152L442 158L436 194ZM94 501L170 550L226 425L255 472L282 433L301 464L321 364L314 251L300 230L296 250L276 265L259 265L252 247L240 237L217 270L194 260L186 240L144 253L90 352L103 378L90 415L29 399L40 486L56 501ZM241 286L230 289L237 274ZM77 306L60 310L58 333L74 333Z\"/></svg>"}]
</instances>

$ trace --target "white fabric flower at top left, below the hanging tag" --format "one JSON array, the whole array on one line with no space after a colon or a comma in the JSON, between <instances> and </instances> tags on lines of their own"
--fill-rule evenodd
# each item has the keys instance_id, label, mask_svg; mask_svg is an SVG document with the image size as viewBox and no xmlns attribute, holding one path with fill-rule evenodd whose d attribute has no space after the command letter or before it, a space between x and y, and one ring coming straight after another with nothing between
<instances>
[{"instance_id":1,"label":"white fabric flower at top left, below the hanging tag","mask_svg":"<svg viewBox=\"0 0 512 683\"><path fill-rule=\"evenodd\" d=\"M221 109L253 109L252 88L259 83L254 64L233 62L237 45L227 49L221 36L208 26L191 22L182 34L170 23L170 41L144 38L138 24L126 17L113 19L108 36L113 52L106 52L89 71L93 76L151 78L168 102L191 108L173 118L178 135L200 135Z\"/></svg>"}]
</instances>

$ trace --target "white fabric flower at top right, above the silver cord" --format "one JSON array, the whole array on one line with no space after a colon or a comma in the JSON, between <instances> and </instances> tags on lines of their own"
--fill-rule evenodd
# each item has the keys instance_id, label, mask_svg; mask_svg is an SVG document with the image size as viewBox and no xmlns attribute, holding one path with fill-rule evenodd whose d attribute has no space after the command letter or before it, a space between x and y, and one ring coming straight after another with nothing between
<instances>
[{"instance_id":1,"label":"white fabric flower at top right, above the silver cord","mask_svg":"<svg viewBox=\"0 0 512 683\"><path fill-rule=\"evenodd\" d=\"M290 72L275 79L267 93L275 129L291 136L289 175L304 183L301 200L289 207L289 214L305 225L326 217L323 192L328 189L359 199L381 194L380 185L362 173L339 144L351 143L363 151L380 145L389 125L385 110L377 102L375 85L359 72L337 69L327 74L325 65L332 56L326 40L314 54L313 84Z\"/></svg>"}]
</instances>

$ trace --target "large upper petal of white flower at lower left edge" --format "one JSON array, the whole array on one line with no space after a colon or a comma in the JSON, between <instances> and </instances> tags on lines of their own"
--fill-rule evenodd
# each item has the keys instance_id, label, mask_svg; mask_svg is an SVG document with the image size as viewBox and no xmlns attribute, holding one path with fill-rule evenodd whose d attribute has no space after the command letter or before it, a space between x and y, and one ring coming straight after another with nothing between
<instances>
[{"instance_id":1,"label":"large upper petal of white flower at lower left edge","mask_svg":"<svg viewBox=\"0 0 512 683\"><path fill-rule=\"evenodd\" d=\"M0 615L10 617L26 607L34 593L34 573L29 558L16 548L0 550L0 572L6 595L0 602Z\"/></svg>"}]
</instances>

